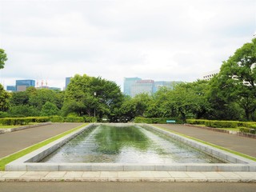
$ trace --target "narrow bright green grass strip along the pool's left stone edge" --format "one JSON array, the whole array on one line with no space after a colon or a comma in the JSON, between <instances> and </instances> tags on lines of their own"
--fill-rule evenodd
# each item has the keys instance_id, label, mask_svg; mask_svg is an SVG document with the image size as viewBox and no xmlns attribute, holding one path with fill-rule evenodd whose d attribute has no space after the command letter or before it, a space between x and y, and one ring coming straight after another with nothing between
<instances>
[{"instance_id":1,"label":"narrow bright green grass strip along the pool's left stone edge","mask_svg":"<svg viewBox=\"0 0 256 192\"><path fill-rule=\"evenodd\" d=\"M79 130L81 129L83 126L86 126L88 123L83 124L82 126L78 126L75 127L72 130L67 130L66 132L62 133L62 134L58 134L52 138L48 138L45 141L42 142L38 142L37 144L35 144L34 146L29 146L24 150L20 150L17 153L14 154L10 154L9 156L6 156L4 158L0 158L0 170L5 170L5 166L6 164L13 162L14 160L21 158L22 156L31 153L34 150L38 150L39 148L41 148L42 146L46 146L47 144L49 144L50 142L54 142L55 140L57 140L58 138L62 138L64 136L66 136L67 134L70 134L72 132L74 132L75 130Z\"/></svg>"}]
</instances>

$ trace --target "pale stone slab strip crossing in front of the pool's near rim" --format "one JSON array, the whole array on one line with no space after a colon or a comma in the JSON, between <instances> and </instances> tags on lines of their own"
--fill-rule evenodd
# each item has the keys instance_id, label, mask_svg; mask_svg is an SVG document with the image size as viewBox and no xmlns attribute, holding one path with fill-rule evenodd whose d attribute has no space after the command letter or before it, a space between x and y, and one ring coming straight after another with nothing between
<instances>
[{"instance_id":1,"label":"pale stone slab strip crossing in front of the pool's near rim","mask_svg":"<svg viewBox=\"0 0 256 192\"><path fill-rule=\"evenodd\" d=\"M1 182L253 182L256 172L2 171Z\"/></svg>"}]
</instances>

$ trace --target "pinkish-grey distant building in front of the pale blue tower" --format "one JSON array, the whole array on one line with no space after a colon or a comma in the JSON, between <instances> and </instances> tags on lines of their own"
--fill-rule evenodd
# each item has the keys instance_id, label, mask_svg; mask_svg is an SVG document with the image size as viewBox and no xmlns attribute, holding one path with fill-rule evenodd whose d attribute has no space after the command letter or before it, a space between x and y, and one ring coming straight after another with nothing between
<instances>
[{"instance_id":1,"label":"pinkish-grey distant building in front of the pale blue tower","mask_svg":"<svg viewBox=\"0 0 256 192\"><path fill-rule=\"evenodd\" d=\"M154 94L154 80L138 80L130 86L130 96Z\"/></svg>"}]
</instances>

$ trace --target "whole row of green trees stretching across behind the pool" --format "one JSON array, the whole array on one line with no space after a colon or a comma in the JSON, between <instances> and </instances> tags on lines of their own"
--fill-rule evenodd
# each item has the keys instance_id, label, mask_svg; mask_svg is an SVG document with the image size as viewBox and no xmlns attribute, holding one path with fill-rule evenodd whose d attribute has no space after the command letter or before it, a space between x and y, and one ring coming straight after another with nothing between
<instances>
[{"instance_id":1,"label":"whole row of green trees stretching across behind the pool","mask_svg":"<svg viewBox=\"0 0 256 192\"><path fill-rule=\"evenodd\" d=\"M256 39L223 62L210 81L180 83L154 95L122 94L115 82L75 75L65 91L36 90L6 93L0 85L1 116L75 115L108 118L110 122L146 118L208 118L256 120Z\"/></svg>"}]
</instances>

